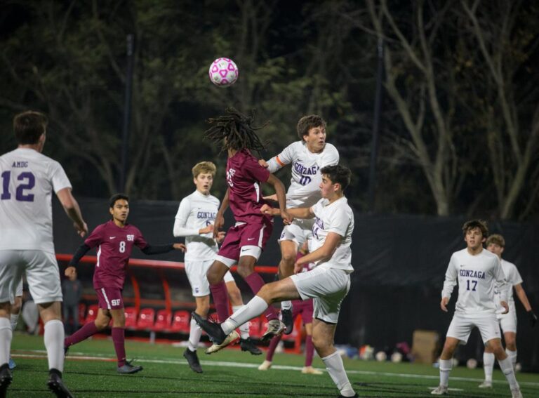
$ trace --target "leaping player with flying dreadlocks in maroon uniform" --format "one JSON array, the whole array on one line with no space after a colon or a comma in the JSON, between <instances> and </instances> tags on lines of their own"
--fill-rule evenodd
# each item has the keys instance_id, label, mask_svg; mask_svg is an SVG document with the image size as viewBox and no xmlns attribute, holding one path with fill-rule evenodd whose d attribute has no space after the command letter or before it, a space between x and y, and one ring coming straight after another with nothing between
<instances>
[{"instance_id":1,"label":"leaping player with flying dreadlocks in maroon uniform","mask_svg":"<svg viewBox=\"0 0 539 398\"><path fill-rule=\"evenodd\" d=\"M214 237L217 237L220 227L225 222L223 214L228 206L236 220L236 224L229 228L225 241L222 242L215 261L206 274L220 321L224 321L229 316L227 288L223 277L232 265L238 264L238 273L245 279L253 294L258 293L264 286L264 280L254 269L255 263L272 234L273 220L260 211L262 205L265 204L262 192L260 192L260 183L267 183L274 187L282 218L285 222L292 220L285 207L283 183L266 168L260 166L258 159L251 154L251 150L260 152L265 148L265 144L256 135L256 131L263 128L265 124L254 127L253 121L254 112L248 117L234 108L228 108L226 115L208 119L208 123L212 126L204 134L206 138L220 143L222 151L226 150L228 154L226 174L228 189L215 216ZM268 326L262 338L270 339L282 333L284 324L279 320L277 311L273 307L268 307L265 315ZM220 345L214 344L206 350L206 353L218 351L238 338L238 333L232 331L225 342Z\"/></svg>"}]
</instances>

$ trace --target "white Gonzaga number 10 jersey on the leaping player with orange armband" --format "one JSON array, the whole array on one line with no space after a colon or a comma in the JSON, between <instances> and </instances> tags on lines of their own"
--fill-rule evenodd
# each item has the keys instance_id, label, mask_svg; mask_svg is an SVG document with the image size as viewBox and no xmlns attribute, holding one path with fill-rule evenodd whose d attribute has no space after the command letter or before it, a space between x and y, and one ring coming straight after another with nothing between
<instances>
[{"instance_id":1,"label":"white Gonzaga number 10 jersey on the leaping player with orange armband","mask_svg":"<svg viewBox=\"0 0 539 398\"><path fill-rule=\"evenodd\" d=\"M272 157L268 164L270 173L291 164L291 184L286 192L286 206L310 207L320 200L320 183L322 176L320 169L339 163L339 152L333 145L326 143L324 150L314 154L307 149L305 141L292 142L291 145L276 157Z\"/></svg>"}]
</instances>

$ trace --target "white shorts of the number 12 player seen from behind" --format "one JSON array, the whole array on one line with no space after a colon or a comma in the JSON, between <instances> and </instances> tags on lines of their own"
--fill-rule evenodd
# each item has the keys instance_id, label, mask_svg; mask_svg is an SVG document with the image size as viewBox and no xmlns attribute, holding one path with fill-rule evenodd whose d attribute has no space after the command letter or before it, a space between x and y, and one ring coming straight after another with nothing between
<instances>
[{"instance_id":1,"label":"white shorts of the number 12 player seen from behind","mask_svg":"<svg viewBox=\"0 0 539 398\"><path fill-rule=\"evenodd\" d=\"M0 303L22 295L22 274L36 304L62 301L60 272L53 253L41 250L0 250ZM20 286L20 295L18 295Z\"/></svg>"}]
</instances>

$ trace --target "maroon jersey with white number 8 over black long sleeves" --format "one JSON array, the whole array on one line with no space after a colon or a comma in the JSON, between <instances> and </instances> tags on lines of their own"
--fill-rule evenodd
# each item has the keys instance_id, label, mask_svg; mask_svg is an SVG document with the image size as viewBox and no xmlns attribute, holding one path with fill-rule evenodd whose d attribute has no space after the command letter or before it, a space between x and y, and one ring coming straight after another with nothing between
<instances>
[{"instance_id":1,"label":"maroon jersey with white number 8 over black long sleeves","mask_svg":"<svg viewBox=\"0 0 539 398\"><path fill-rule=\"evenodd\" d=\"M145 248L148 244L133 225L121 228L113 221L98 225L84 241L90 247L98 247L98 263L93 272L93 288L124 288L126 268L133 245Z\"/></svg>"}]
</instances>

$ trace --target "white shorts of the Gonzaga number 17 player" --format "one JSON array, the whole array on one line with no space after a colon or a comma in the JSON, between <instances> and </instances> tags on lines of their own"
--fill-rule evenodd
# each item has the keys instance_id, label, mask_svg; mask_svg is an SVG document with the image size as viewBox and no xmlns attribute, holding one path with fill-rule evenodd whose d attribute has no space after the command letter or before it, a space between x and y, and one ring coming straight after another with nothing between
<instances>
[{"instance_id":1,"label":"white shorts of the Gonzaga number 17 player","mask_svg":"<svg viewBox=\"0 0 539 398\"><path fill-rule=\"evenodd\" d=\"M449 325L446 336L456 338L466 344L474 327L479 329L483 343L493 338L502 338L498 319L496 319L495 314L481 314L479 317L470 317L470 315L463 317L455 314L453 315L453 320Z\"/></svg>"}]
</instances>

